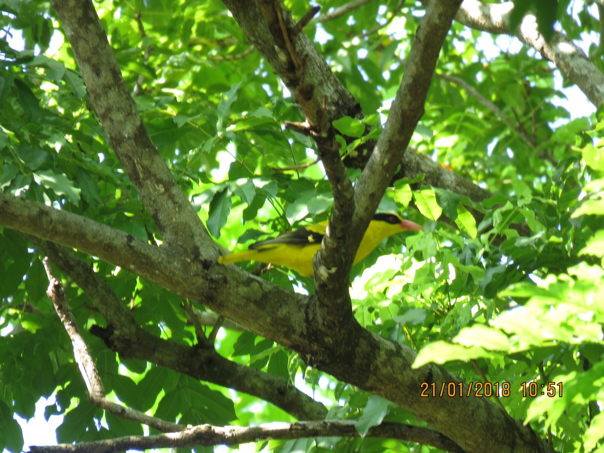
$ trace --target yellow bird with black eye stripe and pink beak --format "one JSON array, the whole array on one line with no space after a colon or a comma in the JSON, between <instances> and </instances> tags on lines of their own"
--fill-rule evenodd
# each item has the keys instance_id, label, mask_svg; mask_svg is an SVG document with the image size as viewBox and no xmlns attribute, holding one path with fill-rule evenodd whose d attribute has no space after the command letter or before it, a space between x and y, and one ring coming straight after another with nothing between
<instances>
[{"instance_id":1,"label":"yellow bird with black eye stripe and pink beak","mask_svg":"<svg viewBox=\"0 0 604 453\"><path fill-rule=\"evenodd\" d=\"M218 259L220 264L237 263L254 260L261 263L272 263L294 269L300 275L312 276L312 259L321 247L321 241L327 228L327 220L304 226L290 233L283 233L274 239L257 242L243 252L223 255ZM423 230L422 226L411 220L403 220L398 214L375 214L356 251L353 265L364 259L377 245L388 236L402 231Z\"/></svg>"}]
</instances>

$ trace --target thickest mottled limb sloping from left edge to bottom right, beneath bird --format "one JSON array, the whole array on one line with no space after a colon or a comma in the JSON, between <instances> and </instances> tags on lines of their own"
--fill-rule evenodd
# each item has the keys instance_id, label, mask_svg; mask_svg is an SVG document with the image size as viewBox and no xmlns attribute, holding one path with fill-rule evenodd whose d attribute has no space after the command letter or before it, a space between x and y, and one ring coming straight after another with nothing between
<instances>
[{"instance_id":1,"label":"thickest mottled limb sloping from left edge to bottom right, beneath bird","mask_svg":"<svg viewBox=\"0 0 604 453\"><path fill-rule=\"evenodd\" d=\"M53 240L54 236L62 236L66 245L79 247L70 240L78 240L81 236L79 231L94 222L83 219L86 223L73 224L73 217L82 217L65 211L49 211L55 210L0 193L2 225L43 239ZM204 301L206 306L225 313L231 320L248 327L252 332L297 351L307 358L310 365L316 365L337 379L350 382L412 411L466 451L548 451L530 427L516 423L487 399L422 398L422 382L440 385L442 382L458 381L437 365L426 365L413 370L411 365L416 353L409 347L395 344L355 324L356 330L350 336L354 340L351 342L353 347L348 347L350 355L334 356L332 351L337 345L326 344L324 341L324 338L333 338L333 333L326 329L329 326L324 326L317 318L316 306L309 304L307 297L284 291L232 266L214 266L209 272L199 269L192 272L184 258L180 257L181 261L178 261L178 257L173 258L162 250L163 247L156 248L120 231L103 228L111 231L112 235L98 238L95 246L83 251L101 259L107 259L106 255L114 257L117 259L112 262L115 265L137 272L141 277L183 297ZM70 231L71 236L66 231ZM147 254L146 249L139 251L137 248L126 248L121 254L115 252L120 244L128 246L127 237L152 249L153 253ZM161 269L161 272L150 269ZM144 274L139 271L144 271ZM124 338L129 335L126 330L124 329ZM172 349L172 344L168 344L166 348L162 351L162 360L167 363L173 360L170 355L179 353L180 350ZM199 359L199 356L191 356L190 352L182 353L193 366L194 361ZM154 359L147 355L144 357ZM462 425L472 426L472 429L457 428ZM523 445L510 445L511 439L522 439Z\"/></svg>"}]
</instances>

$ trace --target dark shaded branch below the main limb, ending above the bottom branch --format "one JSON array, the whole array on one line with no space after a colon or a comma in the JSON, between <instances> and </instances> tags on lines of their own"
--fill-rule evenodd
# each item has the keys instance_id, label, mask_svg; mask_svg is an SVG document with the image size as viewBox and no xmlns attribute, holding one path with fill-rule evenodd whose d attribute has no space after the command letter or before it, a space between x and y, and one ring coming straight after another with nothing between
<instances>
[{"instance_id":1,"label":"dark shaded branch below the main limb, ending above the bottom branch","mask_svg":"<svg viewBox=\"0 0 604 453\"><path fill-rule=\"evenodd\" d=\"M126 309L104 280L81 262L74 252L51 242L39 243L37 246L86 292L108 319L109 326L106 329L95 326L91 332L100 336L108 347L120 353L122 358L150 361L202 381L251 394L301 420L320 420L326 416L327 410L323 404L297 390L286 379L264 373L257 368L231 362L220 356L213 344L200 344L198 347L175 344L141 329L135 323L132 313ZM85 354L80 353L80 355ZM100 380L91 381L98 382L100 385ZM97 393L104 397L102 390ZM92 391L91 395L93 395ZM97 405L101 402L103 403L101 407L111 411L121 407L108 400L101 401L101 398L91 401ZM118 414L121 416L121 413ZM179 429L184 427L170 428L170 431Z\"/></svg>"}]
</instances>

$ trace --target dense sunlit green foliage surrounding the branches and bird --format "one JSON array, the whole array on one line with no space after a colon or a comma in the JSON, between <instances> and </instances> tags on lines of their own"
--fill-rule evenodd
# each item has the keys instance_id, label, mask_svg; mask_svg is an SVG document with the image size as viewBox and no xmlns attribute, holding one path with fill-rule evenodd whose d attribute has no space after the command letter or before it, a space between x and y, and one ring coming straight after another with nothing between
<instances>
[{"instance_id":1,"label":"dense sunlit green foliage surrounding the branches and bird","mask_svg":"<svg viewBox=\"0 0 604 453\"><path fill-rule=\"evenodd\" d=\"M400 165L378 208L399 211L424 231L393 236L356 265L350 297L360 326L419 352L414 367L443 365L464 382L464 392L472 385L472 393L492 394L496 405L529 423L556 451L603 451L604 122L592 113L595 108L585 108L582 92L561 106L565 89L581 84L542 57L540 48L521 45L512 35L519 35L515 30L525 14L536 12L548 40L564 33L581 43L588 54L581 61L601 74L604 7L597 1L554 3L557 9L549 2L522 2L511 16L513 28L502 28L500 36L472 27L460 14L452 22L405 155L419 156L419 164ZM282 5L295 21L312 7L306 1ZM364 167L359 154L373 146L388 119L426 5L329 0L320 6L302 33L360 104L362 114L332 118L342 162L355 183ZM114 131L100 121L54 7L0 1L2 195L52 207L59 216L86 217L162 251L169 247L162 244L165 225L158 225L150 199L138 193L140 178L114 152ZM301 127L285 127L287 121L303 123L304 111L282 72L257 50L262 45L251 42L225 5L106 0L94 8L157 152L223 251L329 218L334 193L315 141ZM551 31L552 22L557 31ZM592 100L596 107L600 102ZM87 399L72 343L47 296L45 255L108 399L142 413L181 425L313 418L266 402L245 384L266 374L321 402L324 413L318 410L315 419L358 420L363 435L382 422L429 428L451 410L446 396L426 398L435 412L425 420L413 405L395 404L370 385L355 384L356 377L336 379L294 340L280 341L277 333L265 338L271 326L247 325L239 311L221 310L222 320L210 310L213 298L196 299L108 259L111 246L101 237L98 249L89 250L65 240L69 231L55 238L53 222L59 221L50 217L40 220L50 233L43 226L30 231L28 222L22 228L8 223L7 200L0 199L0 446L9 451L24 446L13 415L30 419L40 397L56 401L46 417L63 416L59 443L159 432ZM29 215L25 208L23 214ZM165 362L151 347L147 356L124 353L119 345L112 350L106 334L95 330L112 325L98 307L98 294L82 288L76 271L72 275L55 263L45 248L53 239L75 250L80 271L100 278L154 338L198 348L213 342L220 356L257 374L204 379L159 366ZM201 248L204 259L211 253ZM158 274L169 272L153 265ZM312 279L288 269L266 271L253 262L240 267L288 292L315 294ZM439 385L426 388L438 393ZM466 398L472 399L487 398ZM455 429L471 432L473 426ZM459 451L471 451L444 434L461 445ZM420 451L411 440L315 434L257 448ZM425 442L421 451L441 451L442 445Z\"/></svg>"}]
</instances>

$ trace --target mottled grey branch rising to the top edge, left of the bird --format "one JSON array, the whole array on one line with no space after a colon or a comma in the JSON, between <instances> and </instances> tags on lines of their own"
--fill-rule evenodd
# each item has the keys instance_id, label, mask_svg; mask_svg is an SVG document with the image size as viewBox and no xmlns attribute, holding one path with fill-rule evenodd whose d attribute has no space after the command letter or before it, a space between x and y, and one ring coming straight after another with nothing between
<instances>
[{"instance_id":1,"label":"mottled grey branch rising to the top edge, left of the bird","mask_svg":"<svg viewBox=\"0 0 604 453\"><path fill-rule=\"evenodd\" d=\"M92 2L53 0L109 143L151 213L164 243L204 265L217 251L193 207L155 149L121 76Z\"/></svg>"}]
</instances>

